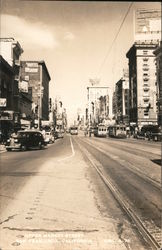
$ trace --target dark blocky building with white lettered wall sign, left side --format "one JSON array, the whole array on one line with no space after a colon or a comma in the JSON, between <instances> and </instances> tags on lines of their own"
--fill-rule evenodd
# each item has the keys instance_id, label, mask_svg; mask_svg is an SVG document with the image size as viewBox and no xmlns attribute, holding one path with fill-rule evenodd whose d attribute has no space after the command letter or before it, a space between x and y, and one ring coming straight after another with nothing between
<instances>
[{"instance_id":1,"label":"dark blocky building with white lettered wall sign, left side","mask_svg":"<svg viewBox=\"0 0 162 250\"><path fill-rule=\"evenodd\" d=\"M21 61L21 82L32 88L32 111L35 126L49 119L49 82L51 77L44 61ZM36 125L37 124L37 125Z\"/></svg>"}]
</instances>

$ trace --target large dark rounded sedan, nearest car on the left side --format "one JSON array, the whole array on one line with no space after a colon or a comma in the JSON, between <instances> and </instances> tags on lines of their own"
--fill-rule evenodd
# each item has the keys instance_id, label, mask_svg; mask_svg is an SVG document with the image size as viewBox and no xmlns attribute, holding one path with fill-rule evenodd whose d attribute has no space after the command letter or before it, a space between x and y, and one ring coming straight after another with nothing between
<instances>
[{"instance_id":1,"label":"large dark rounded sedan, nearest car on the left side","mask_svg":"<svg viewBox=\"0 0 162 250\"><path fill-rule=\"evenodd\" d=\"M20 130L16 134L12 134L7 140L6 150L12 149L27 150L30 148L42 149L47 145L41 131L36 130Z\"/></svg>"}]
</instances>

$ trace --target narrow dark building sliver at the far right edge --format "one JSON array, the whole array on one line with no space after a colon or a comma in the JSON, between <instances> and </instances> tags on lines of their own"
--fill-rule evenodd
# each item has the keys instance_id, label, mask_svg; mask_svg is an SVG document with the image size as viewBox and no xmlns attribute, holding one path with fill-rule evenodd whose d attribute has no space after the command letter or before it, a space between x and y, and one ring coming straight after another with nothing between
<instances>
[{"instance_id":1,"label":"narrow dark building sliver at the far right edge","mask_svg":"<svg viewBox=\"0 0 162 250\"><path fill-rule=\"evenodd\" d=\"M154 54L156 56L158 125L162 128L162 42Z\"/></svg>"}]
</instances>

